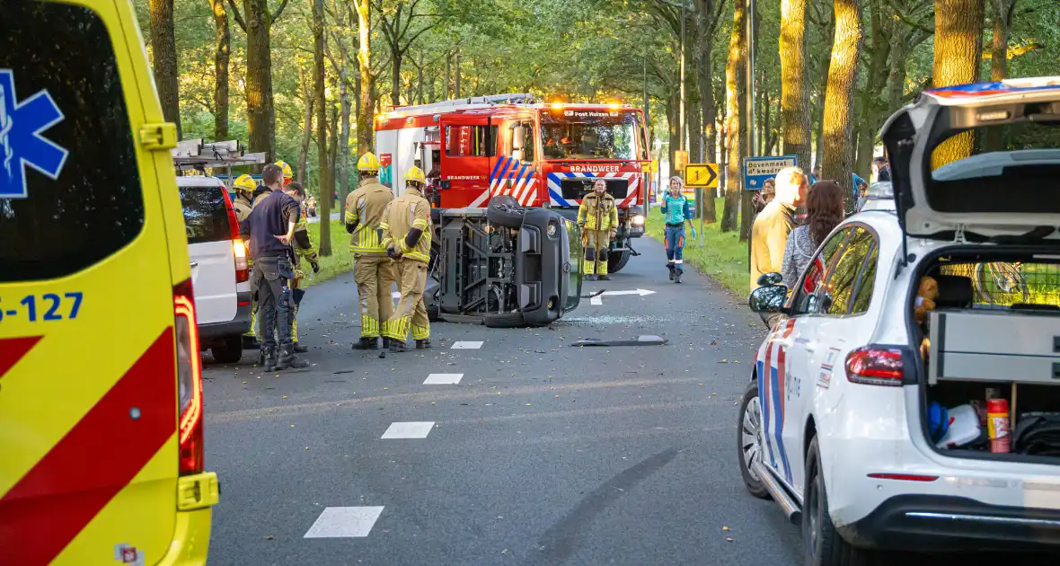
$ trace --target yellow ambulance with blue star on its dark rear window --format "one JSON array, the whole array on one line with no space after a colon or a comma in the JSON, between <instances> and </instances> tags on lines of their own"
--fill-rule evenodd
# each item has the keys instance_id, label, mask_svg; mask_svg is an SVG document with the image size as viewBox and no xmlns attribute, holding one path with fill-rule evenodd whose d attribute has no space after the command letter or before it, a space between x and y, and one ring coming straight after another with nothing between
<instances>
[{"instance_id":1,"label":"yellow ambulance with blue star on its dark rear window","mask_svg":"<svg viewBox=\"0 0 1060 566\"><path fill-rule=\"evenodd\" d=\"M0 564L196 565L216 475L128 0L0 0Z\"/></svg>"}]
</instances>

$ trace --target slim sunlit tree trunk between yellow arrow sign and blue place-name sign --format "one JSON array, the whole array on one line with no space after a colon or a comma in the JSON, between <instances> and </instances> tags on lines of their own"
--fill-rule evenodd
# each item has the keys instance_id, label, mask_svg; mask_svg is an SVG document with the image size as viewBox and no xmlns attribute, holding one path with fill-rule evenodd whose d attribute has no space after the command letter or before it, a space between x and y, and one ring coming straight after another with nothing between
<instances>
[{"instance_id":1,"label":"slim sunlit tree trunk between yellow arrow sign and blue place-name sign","mask_svg":"<svg viewBox=\"0 0 1060 566\"><path fill-rule=\"evenodd\" d=\"M725 210L722 213L723 232L739 229L740 192L743 176L740 174L741 157L746 154L747 144L743 117L744 75L747 67L746 4L744 0L732 0L732 30L729 37L728 60L725 64L725 114L728 132L728 172L725 183Z\"/></svg>"}]
</instances>

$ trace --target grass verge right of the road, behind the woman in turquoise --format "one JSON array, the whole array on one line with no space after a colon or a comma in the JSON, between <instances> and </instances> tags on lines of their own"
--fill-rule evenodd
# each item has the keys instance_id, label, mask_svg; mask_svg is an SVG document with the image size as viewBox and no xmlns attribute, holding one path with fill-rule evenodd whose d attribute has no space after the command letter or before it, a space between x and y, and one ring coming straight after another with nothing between
<instances>
[{"instance_id":1,"label":"grass verge right of the road, behind the woman in turquoise","mask_svg":"<svg viewBox=\"0 0 1060 566\"><path fill-rule=\"evenodd\" d=\"M717 210L724 210L725 199L717 199ZM693 219L696 231L700 222ZM685 263L692 264L702 273L721 283L739 297L746 297L750 289L747 273L747 243L740 242L739 232L722 232L720 225L704 224L701 237L692 237L685 225ZM651 210L646 225L647 234L662 244L662 214L657 208ZM701 243L702 242L702 243ZM662 266L659 266L662 268Z\"/></svg>"}]
</instances>

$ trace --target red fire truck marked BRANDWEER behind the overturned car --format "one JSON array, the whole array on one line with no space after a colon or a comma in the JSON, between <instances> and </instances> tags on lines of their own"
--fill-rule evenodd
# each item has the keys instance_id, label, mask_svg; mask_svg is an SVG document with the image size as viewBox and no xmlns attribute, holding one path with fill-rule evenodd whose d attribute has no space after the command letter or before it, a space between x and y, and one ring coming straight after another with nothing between
<instances>
[{"instance_id":1,"label":"red fire truck marked BRANDWEER behind the overturned car","mask_svg":"<svg viewBox=\"0 0 1060 566\"><path fill-rule=\"evenodd\" d=\"M608 271L625 266L644 233L651 161L643 113L622 104L544 104L530 94L395 107L376 117L381 177L401 194L411 165L427 172L438 208L482 208L506 195L575 219L593 182L619 209ZM398 180L398 181L395 181Z\"/></svg>"}]
</instances>

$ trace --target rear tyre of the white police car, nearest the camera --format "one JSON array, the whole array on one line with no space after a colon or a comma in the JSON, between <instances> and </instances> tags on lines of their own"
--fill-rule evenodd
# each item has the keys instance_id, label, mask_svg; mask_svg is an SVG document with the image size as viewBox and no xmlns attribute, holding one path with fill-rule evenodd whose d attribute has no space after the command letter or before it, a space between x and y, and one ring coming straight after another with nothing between
<instances>
[{"instance_id":1,"label":"rear tyre of the white police car, nearest the camera","mask_svg":"<svg viewBox=\"0 0 1060 566\"><path fill-rule=\"evenodd\" d=\"M889 554L855 548L835 530L828 513L828 493L820 465L817 438L806 454L806 487L802 492L802 548L807 566L871 566L893 564Z\"/></svg>"}]
</instances>

